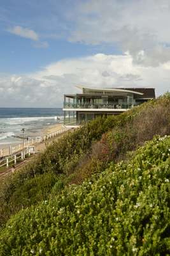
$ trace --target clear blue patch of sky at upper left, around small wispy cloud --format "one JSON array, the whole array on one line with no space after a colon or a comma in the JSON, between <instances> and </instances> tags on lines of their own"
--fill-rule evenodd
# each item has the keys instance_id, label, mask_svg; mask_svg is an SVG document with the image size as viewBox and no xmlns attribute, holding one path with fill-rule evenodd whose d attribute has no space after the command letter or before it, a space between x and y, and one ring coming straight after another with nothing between
<instances>
[{"instance_id":1,"label":"clear blue patch of sky at upper left, around small wispy cloud","mask_svg":"<svg viewBox=\"0 0 170 256\"><path fill-rule=\"evenodd\" d=\"M0 8L1 72L34 72L64 58L78 58L103 52L120 52L113 44L91 45L71 42L74 27L70 17L80 1L4 1ZM20 26L31 29L39 40L18 36L9 30ZM46 46L42 47L41 43Z\"/></svg>"}]
</instances>

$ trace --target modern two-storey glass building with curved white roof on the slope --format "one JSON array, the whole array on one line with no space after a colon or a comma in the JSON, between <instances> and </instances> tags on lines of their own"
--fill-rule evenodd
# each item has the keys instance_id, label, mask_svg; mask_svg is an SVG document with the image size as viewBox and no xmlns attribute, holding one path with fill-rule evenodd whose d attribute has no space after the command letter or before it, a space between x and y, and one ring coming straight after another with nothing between
<instances>
[{"instance_id":1,"label":"modern two-storey glass building with curved white roof on the slope","mask_svg":"<svg viewBox=\"0 0 170 256\"><path fill-rule=\"evenodd\" d=\"M155 98L154 88L87 88L64 95L64 124L80 125L97 116L118 115Z\"/></svg>"}]
</instances>

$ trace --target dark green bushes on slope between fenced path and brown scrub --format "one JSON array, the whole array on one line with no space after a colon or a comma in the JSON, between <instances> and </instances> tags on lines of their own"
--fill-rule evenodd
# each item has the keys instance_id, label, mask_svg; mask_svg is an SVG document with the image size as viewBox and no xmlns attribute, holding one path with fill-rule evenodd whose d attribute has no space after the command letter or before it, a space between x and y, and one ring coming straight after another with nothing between
<instances>
[{"instance_id":1,"label":"dark green bushes on slope between fenced path and brown scrub","mask_svg":"<svg viewBox=\"0 0 170 256\"><path fill-rule=\"evenodd\" d=\"M108 120L106 118L97 118L80 129L69 132L66 136L48 146L45 152L39 154L34 161L25 165L14 175L8 175L0 188L0 226L3 225L4 221L8 220L11 214L14 214L22 207L39 202L40 198L34 197L33 193L29 193L30 189L34 190L35 175L42 175L39 176L39 179L36 179L38 191L41 186L46 186L41 182L41 179L45 177L45 173L53 173L60 178L62 173L69 175L74 172L74 166L78 163L80 156L89 150L93 141L99 140L103 132L108 131L114 125L114 119L115 116L110 116ZM46 198L52 187L53 180L51 184L48 182L48 193L46 191L44 195ZM24 198L21 193L22 189L25 191ZM33 198L31 198L32 196Z\"/></svg>"}]
</instances>

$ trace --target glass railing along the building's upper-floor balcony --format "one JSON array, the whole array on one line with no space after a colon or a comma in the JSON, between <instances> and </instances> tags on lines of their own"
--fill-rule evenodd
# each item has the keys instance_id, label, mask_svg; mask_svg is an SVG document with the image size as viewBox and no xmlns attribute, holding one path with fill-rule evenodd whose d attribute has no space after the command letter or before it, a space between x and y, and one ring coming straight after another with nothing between
<instances>
[{"instance_id":1,"label":"glass railing along the building's upper-floor balcony","mask_svg":"<svg viewBox=\"0 0 170 256\"><path fill-rule=\"evenodd\" d=\"M136 104L137 105L137 104ZM136 106L135 105L135 106ZM130 109L134 105L133 104L74 104L74 103L69 103L65 102L64 103L64 108L90 108L90 109L103 109L103 108L108 108L108 109Z\"/></svg>"}]
</instances>

